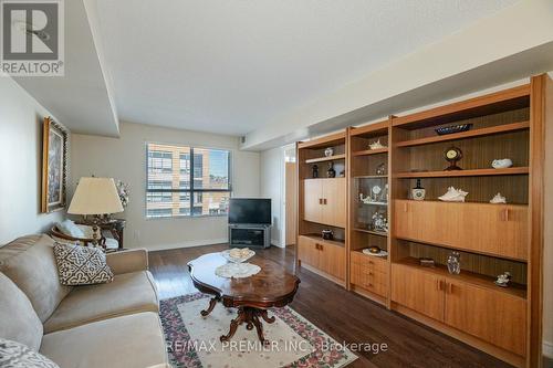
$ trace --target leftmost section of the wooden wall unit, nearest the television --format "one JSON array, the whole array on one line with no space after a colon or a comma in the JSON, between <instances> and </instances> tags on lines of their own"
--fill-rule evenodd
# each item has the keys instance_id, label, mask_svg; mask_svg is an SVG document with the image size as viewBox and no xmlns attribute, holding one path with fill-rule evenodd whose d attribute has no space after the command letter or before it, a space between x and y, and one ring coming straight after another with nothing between
<instances>
[{"instance_id":1,"label":"leftmost section of the wooden wall unit, nearest the television","mask_svg":"<svg viewBox=\"0 0 553 368\"><path fill-rule=\"evenodd\" d=\"M299 266L346 285L347 219L347 135L346 132L299 143L298 149L298 252ZM325 156L331 147L334 153ZM313 177L313 167L319 176ZM328 178L332 165L336 177ZM323 240L322 230L332 230L334 240Z\"/></svg>"}]
</instances>

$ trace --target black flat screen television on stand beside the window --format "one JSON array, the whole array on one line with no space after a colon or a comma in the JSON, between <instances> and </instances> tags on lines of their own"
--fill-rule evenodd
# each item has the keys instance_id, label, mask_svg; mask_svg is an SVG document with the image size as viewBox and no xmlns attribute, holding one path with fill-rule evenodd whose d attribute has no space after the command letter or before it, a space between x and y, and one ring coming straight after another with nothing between
<instances>
[{"instance_id":1,"label":"black flat screen television on stand beside the window","mask_svg":"<svg viewBox=\"0 0 553 368\"><path fill-rule=\"evenodd\" d=\"M231 198L229 223L271 224L271 199Z\"/></svg>"}]
</instances>

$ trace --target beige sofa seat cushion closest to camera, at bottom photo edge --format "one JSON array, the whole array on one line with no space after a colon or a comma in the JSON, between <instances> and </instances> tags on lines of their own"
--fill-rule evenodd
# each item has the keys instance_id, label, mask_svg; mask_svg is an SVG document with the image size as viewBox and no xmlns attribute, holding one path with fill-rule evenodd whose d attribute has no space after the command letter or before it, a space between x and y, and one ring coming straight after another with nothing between
<instances>
[{"instance_id":1,"label":"beige sofa seat cushion closest to camera, at bottom photo edge","mask_svg":"<svg viewBox=\"0 0 553 368\"><path fill-rule=\"evenodd\" d=\"M46 334L40 353L63 368L139 368L167 365L156 313L98 320Z\"/></svg>"}]
</instances>

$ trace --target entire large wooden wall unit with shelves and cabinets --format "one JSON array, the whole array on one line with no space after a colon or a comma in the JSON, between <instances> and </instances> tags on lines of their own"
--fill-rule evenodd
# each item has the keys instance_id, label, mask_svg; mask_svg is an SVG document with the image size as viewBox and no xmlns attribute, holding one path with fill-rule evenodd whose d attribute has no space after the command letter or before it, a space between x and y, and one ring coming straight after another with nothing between
<instances>
[{"instance_id":1,"label":"entire large wooden wall unit with shelves and cabinets","mask_svg":"<svg viewBox=\"0 0 553 368\"><path fill-rule=\"evenodd\" d=\"M551 106L553 83L543 74L518 87L300 143L299 235L315 236L314 230L332 225L342 240L333 244L338 250L333 256L344 266L321 261L322 252L306 245L299 260L514 366L541 367L544 137L545 125L553 124ZM472 127L444 136L435 132L453 124ZM386 147L369 149L377 139ZM321 160L328 145L340 146L331 159L343 160L346 178L333 179L325 193L323 182L332 179L311 183L309 175L310 162L328 160ZM462 170L445 170L444 153L451 146L463 153ZM511 158L513 166L494 169L495 158ZM385 172L377 174L383 164ZM424 201L410 196L416 179L426 189ZM387 196L362 202L359 193L365 197L375 186ZM465 203L438 200L450 186L469 192ZM337 203L347 199L332 210L336 218L325 218L317 207L330 192ZM489 202L497 192L508 204ZM387 232L369 227L375 211L387 217ZM364 254L371 245L387 256ZM451 251L461 253L460 275L447 271ZM421 266L419 257L432 257L436 266ZM493 283L504 271L513 275L507 288Z\"/></svg>"}]
</instances>

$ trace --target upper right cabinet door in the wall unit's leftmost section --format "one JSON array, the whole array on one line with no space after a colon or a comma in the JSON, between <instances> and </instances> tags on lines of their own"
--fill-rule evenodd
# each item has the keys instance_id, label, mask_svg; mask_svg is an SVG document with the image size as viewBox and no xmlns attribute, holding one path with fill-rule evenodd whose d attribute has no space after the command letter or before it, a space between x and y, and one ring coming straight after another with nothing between
<instances>
[{"instance_id":1,"label":"upper right cabinet door in the wall unit's leftmost section","mask_svg":"<svg viewBox=\"0 0 553 368\"><path fill-rule=\"evenodd\" d=\"M345 228L346 186L345 178L327 179L322 182L323 212L322 223Z\"/></svg>"}]
</instances>

